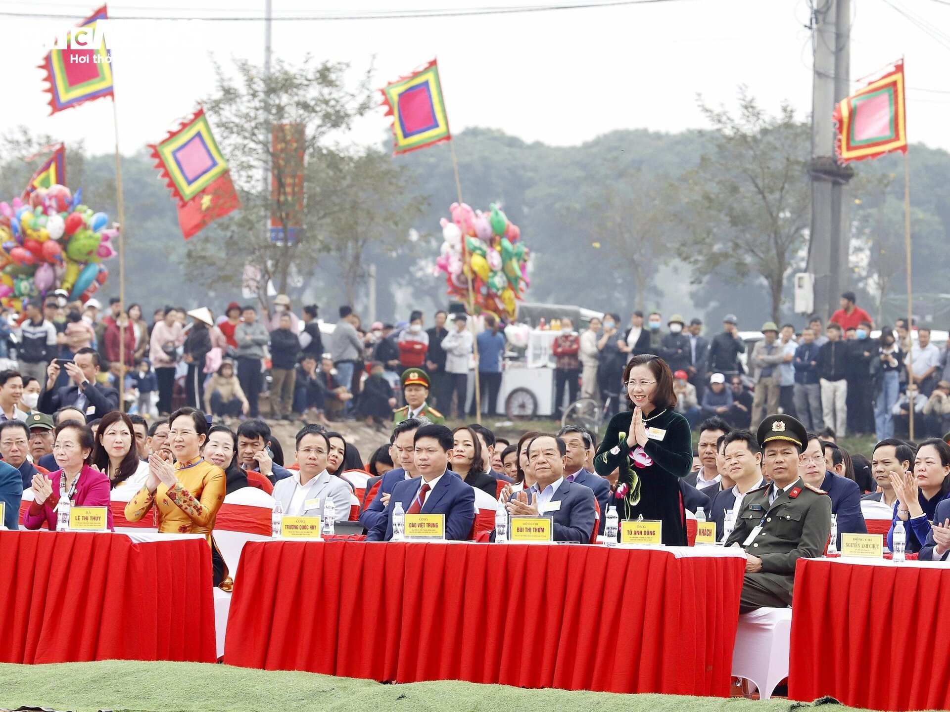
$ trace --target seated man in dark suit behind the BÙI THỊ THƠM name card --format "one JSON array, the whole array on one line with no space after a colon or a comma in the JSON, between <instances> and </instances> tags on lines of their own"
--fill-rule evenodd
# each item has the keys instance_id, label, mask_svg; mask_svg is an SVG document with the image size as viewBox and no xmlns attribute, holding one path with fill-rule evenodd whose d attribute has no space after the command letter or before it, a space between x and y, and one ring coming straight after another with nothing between
<instances>
[{"instance_id":1,"label":"seated man in dark suit behind the B\u00d9I TH\u1eca TH\u01a0M name card","mask_svg":"<svg viewBox=\"0 0 950 712\"><path fill-rule=\"evenodd\" d=\"M554 435L539 435L527 445L528 467L535 483L507 503L512 516L552 516L555 541L587 544L594 534L597 505L594 492L564 479L567 446Z\"/></svg>"}]
</instances>

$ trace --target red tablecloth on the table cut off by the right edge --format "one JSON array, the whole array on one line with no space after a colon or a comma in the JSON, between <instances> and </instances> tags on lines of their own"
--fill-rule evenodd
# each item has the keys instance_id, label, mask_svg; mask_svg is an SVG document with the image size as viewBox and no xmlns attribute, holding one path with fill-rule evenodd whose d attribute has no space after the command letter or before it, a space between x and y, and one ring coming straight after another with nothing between
<instances>
[{"instance_id":1,"label":"red tablecloth on the table cut off by the right edge","mask_svg":"<svg viewBox=\"0 0 950 712\"><path fill-rule=\"evenodd\" d=\"M950 569L799 559L788 697L950 709Z\"/></svg>"}]
</instances>

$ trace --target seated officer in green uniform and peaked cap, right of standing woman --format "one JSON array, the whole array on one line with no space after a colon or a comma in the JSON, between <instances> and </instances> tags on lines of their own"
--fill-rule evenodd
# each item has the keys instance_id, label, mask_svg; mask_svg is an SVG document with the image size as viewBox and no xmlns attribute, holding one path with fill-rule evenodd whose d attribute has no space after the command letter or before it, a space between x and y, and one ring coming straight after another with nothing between
<instances>
[{"instance_id":1,"label":"seated officer in green uniform and peaked cap, right of standing woman","mask_svg":"<svg viewBox=\"0 0 950 712\"><path fill-rule=\"evenodd\" d=\"M726 546L746 550L739 612L791 605L795 562L821 556L831 534L831 498L798 477L807 432L791 416L773 415L759 425L765 475L772 481L746 494Z\"/></svg>"}]
</instances>

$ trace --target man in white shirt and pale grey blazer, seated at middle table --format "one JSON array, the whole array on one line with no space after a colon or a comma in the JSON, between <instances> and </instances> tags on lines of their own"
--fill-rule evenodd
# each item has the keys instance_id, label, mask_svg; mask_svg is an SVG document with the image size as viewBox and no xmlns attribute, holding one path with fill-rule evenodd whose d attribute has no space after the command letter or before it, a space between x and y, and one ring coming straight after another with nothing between
<instances>
[{"instance_id":1,"label":"man in white shirt and pale grey blazer, seated at middle table","mask_svg":"<svg viewBox=\"0 0 950 712\"><path fill-rule=\"evenodd\" d=\"M327 499L333 501L336 521L350 518L350 488L327 472L330 440L322 428L311 423L296 437L296 460L300 470L277 481L274 498L286 516L322 516Z\"/></svg>"}]
</instances>

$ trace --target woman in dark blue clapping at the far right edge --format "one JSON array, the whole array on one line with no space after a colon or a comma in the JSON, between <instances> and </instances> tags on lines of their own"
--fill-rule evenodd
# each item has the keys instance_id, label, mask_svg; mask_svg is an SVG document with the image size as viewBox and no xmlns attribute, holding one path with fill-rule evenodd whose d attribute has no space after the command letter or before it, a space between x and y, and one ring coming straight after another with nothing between
<instances>
[{"instance_id":1,"label":"woman in dark blue clapping at the far right edge","mask_svg":"<svg viewBox=\"0 0 950 712\"><path fill-rule=\"evenodd\" d=\"M891 528L887 532L887 546L893 551L894 527L901 519L907 535L904 551L920 552L930 537L930 523L934 521L937 505L950 492L950 445L939 438L923 440L917 448L914 471L892 471L888 476L897 501Z\"/></svg>"}]
</instances>

